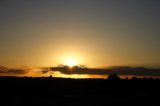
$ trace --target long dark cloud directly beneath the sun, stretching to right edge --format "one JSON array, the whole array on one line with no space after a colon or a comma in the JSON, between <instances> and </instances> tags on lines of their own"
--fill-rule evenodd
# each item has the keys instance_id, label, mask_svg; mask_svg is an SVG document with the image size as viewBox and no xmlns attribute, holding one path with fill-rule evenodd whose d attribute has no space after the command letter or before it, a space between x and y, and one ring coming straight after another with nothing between
<instances>
[{"instance_id":1,"label":"long dark cloud directly beneath the sun, stretching to right edge","mask_svg":"<svg viewBox=\"0 0 160 106\"><path fill-rule=\"evenodd\" d=\"M84 68L84 67L51 67L50 71L59 71L63 74L119 74L119 75L139 75L139 76L160 76L160 69L151 69L144 67L129 67L129 66L113 66L108 68Z\"/></svg>"}]
</instances>

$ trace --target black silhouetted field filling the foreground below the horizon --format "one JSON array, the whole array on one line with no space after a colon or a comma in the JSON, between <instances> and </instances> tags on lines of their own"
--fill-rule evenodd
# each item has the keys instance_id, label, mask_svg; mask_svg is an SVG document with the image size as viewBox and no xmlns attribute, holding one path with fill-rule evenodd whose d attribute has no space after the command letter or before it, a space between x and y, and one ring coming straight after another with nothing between
<instances>
[{"instance_id":1,"label":"black silhouetted field filling the foreground below the horizon","mask_svg":"<svg viewBox=\"0 0 160 106\"><path fill-rule=\"evenodd\" d=\"M160 105L160 80L0 77L0 106Z\"/></svg>"}]
</instances>

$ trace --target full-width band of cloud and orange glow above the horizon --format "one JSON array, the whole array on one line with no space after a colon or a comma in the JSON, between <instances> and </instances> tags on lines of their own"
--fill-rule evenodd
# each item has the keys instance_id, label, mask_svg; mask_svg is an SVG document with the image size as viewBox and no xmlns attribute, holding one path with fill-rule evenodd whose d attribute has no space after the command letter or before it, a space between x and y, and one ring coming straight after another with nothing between
<instances>
[{"instance_id":1,"label":"full-width band of cloud and orange glow above the horizon","mask_svg":"<svg viewBox=\"0 0 160 106\"><path fill-rule=\"evenodd\" d=\"M57 72L59 72L57 74ZM113 66L108 68L86 68L82 66L57 66L57 67L40 67L40 68L17 68L10 69L0 66L0 76L65 76L65 75L136 75L136 76L160 76L160 69L129 67L129 66Z\"/></svg>"}]
</instances>

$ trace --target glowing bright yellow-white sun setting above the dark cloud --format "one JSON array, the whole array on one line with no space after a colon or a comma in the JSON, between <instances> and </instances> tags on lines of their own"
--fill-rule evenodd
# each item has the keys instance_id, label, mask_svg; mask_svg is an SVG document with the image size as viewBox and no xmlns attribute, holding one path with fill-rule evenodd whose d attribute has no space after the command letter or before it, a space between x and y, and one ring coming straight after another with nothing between
<instances>
[{"instance_id":1,"label":"glowing bright yellow-white sun setting above the dark cloud","mask_svg":"<svg viewBox=\"0 0 160 106\"><path fill-rule=\"evenodd\" d=\"M66 58L65 61L64 61L64 64L67 65L67 66L69 66L69 67L73 67L73 66L78 65L77 59L74 58L74 57L68 57L68 58Z\"/></svg>"}]
</instances>

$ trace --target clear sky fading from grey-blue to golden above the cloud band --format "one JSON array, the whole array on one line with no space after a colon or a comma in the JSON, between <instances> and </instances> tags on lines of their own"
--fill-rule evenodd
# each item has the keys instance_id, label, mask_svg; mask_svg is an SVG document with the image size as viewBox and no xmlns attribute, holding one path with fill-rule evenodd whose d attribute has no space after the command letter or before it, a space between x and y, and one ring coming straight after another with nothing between
<instances>
[{"instance_id":1,"label":"clear sky fading from grey-blue to golden above the cloud band","mask_svg":"<svg viewBox=\"0 0 160 106\"><path fill-rule=\"evenodd\" d=\"M0 0L0 65L160 67L159 13L159 0Z\"/></svg>"}]
</instances>

